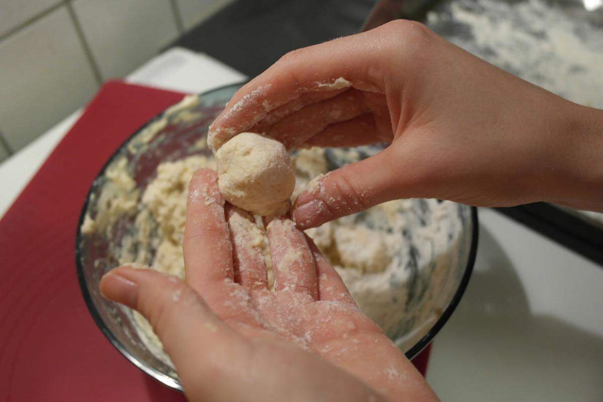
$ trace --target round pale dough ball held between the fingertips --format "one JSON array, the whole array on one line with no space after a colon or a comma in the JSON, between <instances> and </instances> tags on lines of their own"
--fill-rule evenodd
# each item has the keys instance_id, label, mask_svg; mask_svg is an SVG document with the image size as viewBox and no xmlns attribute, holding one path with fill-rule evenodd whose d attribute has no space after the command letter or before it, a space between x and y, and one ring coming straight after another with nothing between
<instances>
[{"instance_id":1,"label":"round pale dough ball held between the fingertips","mask_svg":"<svg viewBox=\"0 0 603 402\"><path fill-rule=\"evenodd\" d=\"M241 133L216 152L218 185L229 203L254 215L280 215L295 188L285 146L267 136Z\"/></svg>"}]
</instances>

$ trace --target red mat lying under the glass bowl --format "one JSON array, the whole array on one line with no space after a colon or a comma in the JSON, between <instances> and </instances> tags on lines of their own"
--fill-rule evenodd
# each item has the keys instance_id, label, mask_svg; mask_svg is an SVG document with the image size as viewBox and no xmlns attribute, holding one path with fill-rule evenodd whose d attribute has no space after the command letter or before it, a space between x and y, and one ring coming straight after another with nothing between
<instances>
[{"instance_id":1,"label":"red mat lying under the glass bowl","mask_svg":"<svg viewBox=\"0 0 603 402\"><path fill-rule=\"evenodd\" d=\"M75 274L87 191L124 140L182 93L110 81L0 221L1 401L183 401L128 362ZM415 359L425 372L428 350Z\"/></svg>"}]
</instances>

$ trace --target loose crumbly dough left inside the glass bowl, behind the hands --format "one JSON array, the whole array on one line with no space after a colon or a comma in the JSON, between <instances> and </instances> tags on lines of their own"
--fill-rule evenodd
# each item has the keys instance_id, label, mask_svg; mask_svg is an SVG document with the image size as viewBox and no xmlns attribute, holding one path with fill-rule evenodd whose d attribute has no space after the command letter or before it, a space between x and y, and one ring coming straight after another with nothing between
<instances>
[{"instance_id":1,"label":"loose crumbly dough left inside the glass bowl, behind the hands","mask_svg":"<svg viewBox=\"0 0 603 402\"><path fill-rule=\"evenodd\" d=\"M361 154L353 149L297 151L292 157L296 183L291 199L312 179L327 175L329 163L339 166L359 157ZM87 216L82 230L88 236L112 239L111 225L119 220L119 215L135 216L132 230L110 252L119 256L120 264L144 264L183 278L186 198L189 181L200 168L215 168L213 157L195 155L161 163L156 178L140 197L125 171L127 166L116 162L107 171L109 183L99 196L101 209ZM322 191L320 178L311 187ZM112 203L106 202L109 198ZM449 278L450 272L456 272L450 266L457 263L456 249L464 247L459 243L462 225L457 207L448 201L401 199L327 222L306 233L341 275L362 312L405 350L424 334L421 325L431 325L437 319L441 310L434 313L436 307L444 306L447 295L454 290L446 287L447 283L456 283ZM256 222L257 233L264 240L262 247L272 286L270 250L262 220ZM159 339L145 319L136 312L134 319L149 347L161 350Z\"/></svg>"}]
</instances>

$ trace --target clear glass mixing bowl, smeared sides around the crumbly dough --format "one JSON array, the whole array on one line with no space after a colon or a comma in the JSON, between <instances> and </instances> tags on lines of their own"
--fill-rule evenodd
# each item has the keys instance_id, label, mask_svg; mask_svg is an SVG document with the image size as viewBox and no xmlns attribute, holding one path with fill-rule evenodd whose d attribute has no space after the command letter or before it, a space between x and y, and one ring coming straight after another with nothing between
<instances>
[{"instance_id":1,"label":"clear glass mixing bowl, smeared sides around the crumbly dough","mask_svg":"<svg viewBox=\"0 0 603 402\"><path fill-rule=\"evenodd\" d=\"M121 163L133 178L133 188L129 191L139 195L154 178L159 163L195 154L209 155L209 149L197 146L198 141L206 136L209 124L239 87L236 84L189 96L180 104L165 110L126 140L92 183L77 229L77 275L82 295L94 321L113 346L131 363L156 380L181 391L182 385L171 363L165 359L161 350L151 347L144 336L140 335L131 310L104 299L98 289L103 274L119 265L119 250L116 247L130 233L134 216L124 213L110 222L107 230L92 233L86 230L86 224L90 216L103 218L96 216L99 204L115 203L115 199L108 199L103 195L103 191L111 185L106 173L112 166ZM418 207L415 213L430 213L425 210L421 200L416 202ZM476 209L454 204L450 211L450 216L444 219L456 219L459 222L455 246L445 253L433 256L433 260L429 262L434 266L443 266L443 274L435 279L435 275L423 275L417 270L416 262L409 261L411 268L414 263L414 271L411 272L414 275L412 297L409 296L409 301L405 304L406 311L401 311L400 316L418 309L425 310L425 300L428 297L431 298L431 305L421 314L415 314L413 319L404 321L395 333L388 333L409 359L432 341L452 315L472 273L478 242ZM428 218L427 215L426 217ZM105 216L103 219L106 221L111 218Z\"/></svg>"}]
</instances>

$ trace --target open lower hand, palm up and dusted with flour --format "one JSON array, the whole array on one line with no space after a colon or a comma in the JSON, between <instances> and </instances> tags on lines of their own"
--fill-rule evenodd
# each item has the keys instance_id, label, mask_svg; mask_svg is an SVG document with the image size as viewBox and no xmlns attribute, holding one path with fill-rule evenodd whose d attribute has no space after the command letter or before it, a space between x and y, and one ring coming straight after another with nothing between
<instances>
[{"instance_id":1,"label":"open lower hand, palm up and dusted with flour","mask_svg":"<svg viewBox=\"0 0 603 402\"><path fill-rule=\"evenodd\" d=\"M192 401L437 400L284 217L267 226L270 292L261 236L203 169L189 188L186 283L122 267L103 277L101 291L150 321Z\"/></svg>"}]
</instances>

